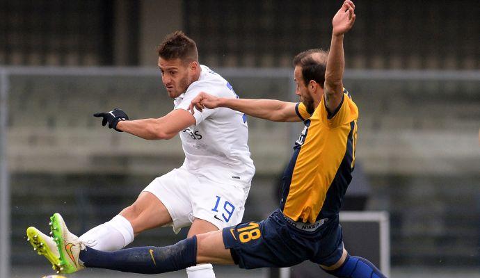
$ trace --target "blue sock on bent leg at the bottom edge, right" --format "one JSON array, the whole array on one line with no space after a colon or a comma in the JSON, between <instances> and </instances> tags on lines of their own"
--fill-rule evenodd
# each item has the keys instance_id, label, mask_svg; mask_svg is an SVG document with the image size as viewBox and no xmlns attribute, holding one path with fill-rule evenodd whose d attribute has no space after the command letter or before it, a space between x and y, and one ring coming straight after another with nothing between
<instances>
[{"instance_id":1,"label":"blue sock on bent leg at the bottom edge, right","mask_svg":"<svg viewBox=\"0 0 480 278\"><path fill-rule=\"evenodd\" d=\"M325 271L340 278L386 278L375 265L360 256L347 255L342 266Z\"/></svg>"}]
</instances>

